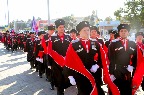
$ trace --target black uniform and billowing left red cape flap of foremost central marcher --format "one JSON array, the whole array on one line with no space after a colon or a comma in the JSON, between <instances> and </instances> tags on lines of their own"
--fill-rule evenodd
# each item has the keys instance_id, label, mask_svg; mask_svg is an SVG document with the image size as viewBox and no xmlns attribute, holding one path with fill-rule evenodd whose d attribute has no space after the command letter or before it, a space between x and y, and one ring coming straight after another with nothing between
<instances>
[{"instance_id":1,"label":"black uniform and billowing left red cape flap of foremost central marcher","mask_svg":"<svg viewBox=\"0 0 144 95\"><path fill-rule=\"evenodd\" d=\"M72 41L65 60L64 72L66 76L73 76L76 80L78 95L105 95L101 89L100 44L96 40L77 39ZM99 68L92 73L90 69L95 64Z\"/></svg>"}]
</instances>

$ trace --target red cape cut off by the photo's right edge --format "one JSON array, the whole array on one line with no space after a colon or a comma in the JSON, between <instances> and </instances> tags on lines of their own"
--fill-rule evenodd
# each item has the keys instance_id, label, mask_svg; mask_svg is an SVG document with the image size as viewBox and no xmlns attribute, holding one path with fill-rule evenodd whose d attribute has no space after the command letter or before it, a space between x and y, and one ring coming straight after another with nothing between
<instances>
[{"instance_id":1,"label":"red cape cut off by the photo's right edge","mask_svg":"<svg viewBox=\"0 0 144 95\"><path fill-rule=\"evenodd\" d=\"M134 77L132 79L132 87L134 88L132 90L132 95L135 94L136 90L141 85L143 75L144 75L144 57L142 55L140 47L137 46L137 67L134 73Z\"/></svg>"}]
</instances>

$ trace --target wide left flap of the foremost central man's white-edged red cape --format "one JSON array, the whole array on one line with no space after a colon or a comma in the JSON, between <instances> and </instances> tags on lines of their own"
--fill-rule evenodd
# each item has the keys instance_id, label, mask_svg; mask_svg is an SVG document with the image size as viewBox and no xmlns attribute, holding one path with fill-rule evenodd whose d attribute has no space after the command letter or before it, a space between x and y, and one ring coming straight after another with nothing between
<instances>
[{"instance_id":1,"label":"wide left flap of the foremost central man's white-edged red cape","mask_svg":"<svg viewBox=\"0 0 144 95\"><path fill-rule=\"evenodd\" d=\"M87 77L90 80L92 88L93 88L90 95L98 95L94 77L85 68L81 59L79 58L77 53L74 51L72 44L70 44L68 51L66 53L65 66L67 66L68 68L73 69L73 70L81 73L85 77Z\"/></svg>"}]
</instances>

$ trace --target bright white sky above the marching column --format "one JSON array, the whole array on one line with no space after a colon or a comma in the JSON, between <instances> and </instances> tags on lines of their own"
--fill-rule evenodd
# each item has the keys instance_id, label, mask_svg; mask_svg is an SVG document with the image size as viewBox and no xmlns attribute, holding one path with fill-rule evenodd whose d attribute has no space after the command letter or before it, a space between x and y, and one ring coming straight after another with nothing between
<instances>
[{"instance_id":1,"label":"bright white sky above the marching column","mask_svg":"<svg viewBox=\"0 0 144 95\"><path fill-rule=\"evenodd\" d=\"M49 0L50 19L61 18L73 14L75 17L91 15L92 10L97 10L101 19L111 16L115 19L114 11L124 6L126 0ZM0 0L0 25L7 24L7 10L10 22L40 17L48 19L47 0Z\"/></svg>"}]
</instances>

